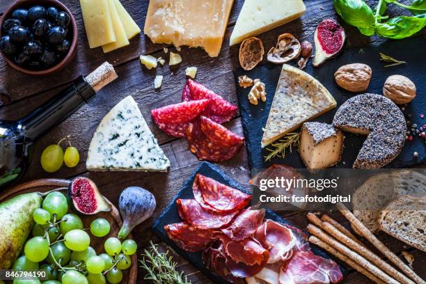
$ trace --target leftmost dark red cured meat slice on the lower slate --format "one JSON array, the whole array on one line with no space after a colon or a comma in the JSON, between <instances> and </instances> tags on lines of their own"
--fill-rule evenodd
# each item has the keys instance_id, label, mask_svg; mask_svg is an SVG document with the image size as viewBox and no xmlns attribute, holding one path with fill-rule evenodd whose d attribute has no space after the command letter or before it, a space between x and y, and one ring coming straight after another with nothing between
<instances>
[{"instance_id":1,"label":"leftmost dark red cured meat slice on the lower slate","mask_svg":"<svg viewBox=\"0 0 426 284\"><path fill-rule=\"evenodd\" d=\"M180 248L185 251L203 251L205 246L212 240L214 230L201 230L191 226L189 223L181 222L164 226L167 235Z\"/></svg>"}]
</instances>

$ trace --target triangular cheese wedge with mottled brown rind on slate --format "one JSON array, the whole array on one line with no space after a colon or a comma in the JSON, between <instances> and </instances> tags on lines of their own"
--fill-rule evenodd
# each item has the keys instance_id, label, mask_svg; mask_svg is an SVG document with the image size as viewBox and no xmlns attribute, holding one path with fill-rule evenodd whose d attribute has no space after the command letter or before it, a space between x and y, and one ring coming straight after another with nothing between
<instances>
[{"instance_id":1,"label":"triangular cheese wedge with mottled brown rind on slate","mask_svg":"<svg viewBox=\"0 0 426 284\"><path fill-rule=\"evenodd\" d=\"M317 79L284 64L263 132L262 148L335 107L336 100Z\"/></svg>"}]
</instances>

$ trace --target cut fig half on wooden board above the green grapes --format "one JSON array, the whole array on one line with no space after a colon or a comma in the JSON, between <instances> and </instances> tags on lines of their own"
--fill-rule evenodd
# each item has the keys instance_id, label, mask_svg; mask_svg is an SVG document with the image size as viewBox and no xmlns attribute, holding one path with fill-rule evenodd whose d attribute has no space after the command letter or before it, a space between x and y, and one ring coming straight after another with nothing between
<instances>
[{"instance_id":1,"label":"cut fig half on wooden board above the green grapes","mask_svg":"<svg viewBox=\"0 0 426 284\"><path fill-rule=\"evenodd\" d=\"M74 178L68 186L68 199L74 209L83 214L111 211L111 203L100 194L95 182L89 178Z\"/></svg>"}]
</instances>

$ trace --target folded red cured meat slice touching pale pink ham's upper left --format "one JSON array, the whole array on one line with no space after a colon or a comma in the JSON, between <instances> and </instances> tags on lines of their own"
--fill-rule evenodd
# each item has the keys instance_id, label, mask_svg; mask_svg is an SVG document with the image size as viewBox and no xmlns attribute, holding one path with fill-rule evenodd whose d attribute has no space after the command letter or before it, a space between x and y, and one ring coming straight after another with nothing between
<instances>
[{"instance_id":1,"label":"folded red cured meat slice touching pale pink ham's upper left","mask_svg":"<svg viewBox=\"0 0 426 284\"><path fill-rule=\"evenodd\" d=\"M253 235L265 218L265 210L246 209L241 212L232 224L222 229L223 234L234 241L241 241Z\"/></svg>"}]
</instances>

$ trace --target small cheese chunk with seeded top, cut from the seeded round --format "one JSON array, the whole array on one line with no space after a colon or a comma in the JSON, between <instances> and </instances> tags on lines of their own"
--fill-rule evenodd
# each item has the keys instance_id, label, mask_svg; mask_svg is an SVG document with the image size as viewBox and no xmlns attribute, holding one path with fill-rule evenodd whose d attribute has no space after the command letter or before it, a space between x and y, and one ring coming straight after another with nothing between
<instances>
[{"instance_id":1,"label":"small cheese chunk with seeded top, cut from the seeded round","mask_svg":"<svg viewBox=\"0 0 426 284\"><path fill-rule=\"evenodd\" d=\"M342 157L343 134L326 123L303 123L299 155L311 171L336 165Z\"/></svg>"}]
</instances>

